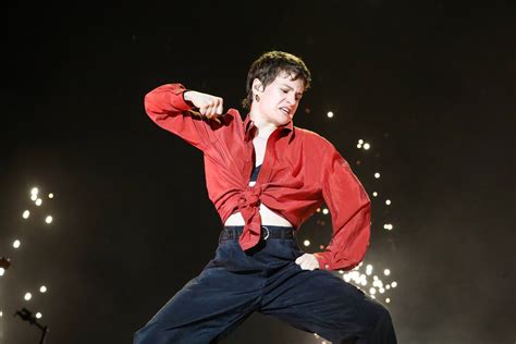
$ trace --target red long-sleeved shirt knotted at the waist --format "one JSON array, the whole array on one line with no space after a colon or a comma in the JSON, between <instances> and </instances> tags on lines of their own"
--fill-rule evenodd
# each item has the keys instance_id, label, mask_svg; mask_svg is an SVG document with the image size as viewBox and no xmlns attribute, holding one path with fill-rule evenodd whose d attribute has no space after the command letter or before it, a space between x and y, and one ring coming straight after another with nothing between
<instances>
[{"instance_id":1,"label":"red long-sleeved shirt knotted at the waist","mask_svg":"<svg viewBox=\"0 0 516 344\"><path fill-rule=\"evenodd\" d=\"M268 138L263 163L254 186L254 123L235 109L214 120L194 114L181 84L160 86L145 96L145 109L162 128L204 152L206 185L222 223L234 212L245 221L239 245L244 250L260 238L259 205L288 220L298 231L324 201L333 234L324 251L315 253L319 267L349 270L369 245L370 199L344 158L322 136L295 127L278 127Z\"/></svg>"}]
</instances>

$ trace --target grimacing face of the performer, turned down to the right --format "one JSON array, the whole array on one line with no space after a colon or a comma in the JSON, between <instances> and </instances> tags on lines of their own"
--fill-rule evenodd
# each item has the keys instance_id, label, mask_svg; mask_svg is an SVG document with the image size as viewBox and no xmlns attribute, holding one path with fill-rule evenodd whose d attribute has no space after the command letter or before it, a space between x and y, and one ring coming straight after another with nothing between
<instances>
[{"instance_id":1,"label":"grimacing face of the performer, turned down to the right","mask_svg":"<svg viewBox=\"0 0 516 344\"><path fill-rule=\"evenodd\" d=\"M255 79L257 85L259 81ZM256 94L260 101L254 101L263 122L280 126L288 123L296 113L299 100L305 90L305 83L300 77L292 79L283 72L265 89L258 87Z\"/></svg>"}]
</instances>

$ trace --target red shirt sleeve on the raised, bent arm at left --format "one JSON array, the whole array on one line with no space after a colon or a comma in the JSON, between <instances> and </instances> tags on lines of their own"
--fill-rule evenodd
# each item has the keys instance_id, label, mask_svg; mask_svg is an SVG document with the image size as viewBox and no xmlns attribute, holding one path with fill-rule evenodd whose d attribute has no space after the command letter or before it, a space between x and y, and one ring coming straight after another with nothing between
<instances>
[{"instance_id":1,"label":"red shirt sleeve on the raised, bent arm at left","mask_svg":"<svg viewBox=\"0 0 516 344\"><path fill-rule=\"evenodd\" d=\"M214 121L189 111L194 107L183 98L186 90L182 84L159 86L145 96L145 111L160 127L205 151L213 140Z\"/></svg>"}]
</instances>

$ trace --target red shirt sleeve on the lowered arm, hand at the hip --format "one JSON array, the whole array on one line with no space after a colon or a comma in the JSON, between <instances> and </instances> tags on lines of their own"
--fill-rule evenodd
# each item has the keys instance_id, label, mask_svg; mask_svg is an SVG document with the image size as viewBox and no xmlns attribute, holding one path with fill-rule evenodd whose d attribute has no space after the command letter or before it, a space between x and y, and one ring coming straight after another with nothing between
<instances>
[{"instance_id":1,"label":"red shirt sleeve on the lowered arm, hand at the hip","mask_svg":"<svg viewBox=\"0 0 516 344\"><path fill-rule=\"evenodd\" d=\"M314 255L320 269L351 270L363 260L369 246L371 201L347 161L333 146L322 159L321 184L333 233L327 249Z\"/></svg>"}]
</instances>

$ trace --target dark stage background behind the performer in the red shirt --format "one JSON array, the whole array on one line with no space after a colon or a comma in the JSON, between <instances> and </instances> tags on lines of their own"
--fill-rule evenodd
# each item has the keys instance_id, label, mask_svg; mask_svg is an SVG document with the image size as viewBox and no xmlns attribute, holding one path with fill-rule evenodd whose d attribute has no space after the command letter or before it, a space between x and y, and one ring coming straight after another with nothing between
<instances>
[{"instance_id":1,"label":"dark stage background behind the performer in the red shirt","mask_svg":"<svg viewBox=\"0 0 516 344\"><path fill-rule=\"evenodd\" d=\"M177 3L4 12L0 256L12 266L0 278L0 341L37 343L37 328L13 317L27 307L42 312L49 344L131 343L200 272L221 225L202 157L156 126L143 97L181 82L241 109L249 64L277 49L312 72L296 126L330 139L380 193L366 261L398 282L388 307L400 343L513 343L514 7ZM56 198L36 208L33 186ZM331 226L318 219L303 237L325 244ZM225 340L243 342L320 340L255 314Z\"/></svg>"}]
</instances>

